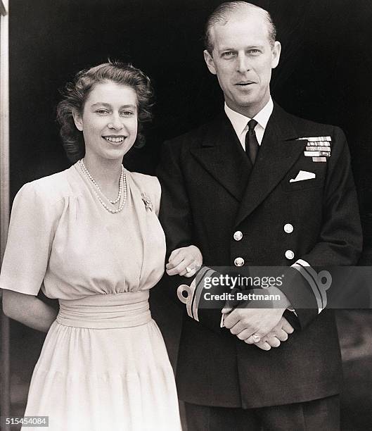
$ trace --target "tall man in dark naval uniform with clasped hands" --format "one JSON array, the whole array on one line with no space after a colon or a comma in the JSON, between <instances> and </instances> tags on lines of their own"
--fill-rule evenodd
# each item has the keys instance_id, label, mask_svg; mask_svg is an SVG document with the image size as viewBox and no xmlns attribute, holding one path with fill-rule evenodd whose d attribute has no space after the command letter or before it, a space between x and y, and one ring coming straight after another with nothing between
<instances>
[{"instance_id":1,"label":"tall man in dark naval uniform with clasped hands","mask_svg":"<svg viewBox=\"0 0 372 431\"><path fill-rule=\"evenodd\" d=\"M298 277L281 287L280 306L248 302L232 311L223 301L204 308L198 277L166 277L174 299L186 304L177 385L188 427L338 430L338 334L333 312L323 310L324 292L309 277L310 266L352 265L361 251L345 136L271 100L281 44L267 11L244 1L222 4L205 39L224 113L165 143L158 175L167 248L195 244L207 267L293 266ZM181 267L193 273L182 254L170 257L170 275ZM207 267L200 277L211 273ZM283 316L296 326L287 341Z\"/></svg>"}]
</instances>

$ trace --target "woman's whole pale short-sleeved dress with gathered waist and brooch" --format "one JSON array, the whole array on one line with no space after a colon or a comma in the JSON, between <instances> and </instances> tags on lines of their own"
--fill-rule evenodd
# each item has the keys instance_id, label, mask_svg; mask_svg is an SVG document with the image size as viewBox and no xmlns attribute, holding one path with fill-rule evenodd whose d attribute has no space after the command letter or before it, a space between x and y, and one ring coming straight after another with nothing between
<instances>
[{"instance_id":1,"label":"woman's whole pale short-sleeved dress with gathered waist and brooch","mask_svg":"<svg viewBox=\"0 0 372 431\"><path fill-rule=\"evenodd\" d=\"M15 197L0 287L32 295L41 287L60 303L25 411L49 416L50 431L181 430L148 308L165 263L160 185L127 172L127 191L124 209L108 213L75 164Z\"/></svg>"}]
</instances>

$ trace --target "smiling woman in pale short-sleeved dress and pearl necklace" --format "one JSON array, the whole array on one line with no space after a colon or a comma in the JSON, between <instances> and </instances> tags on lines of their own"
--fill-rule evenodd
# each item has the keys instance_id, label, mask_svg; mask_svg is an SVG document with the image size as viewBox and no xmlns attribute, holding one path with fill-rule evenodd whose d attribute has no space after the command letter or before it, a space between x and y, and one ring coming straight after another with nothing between
<instances>
[{"instance_id":1,"label":"smiling woman in pale short-sleeved dress and pearl necklace","mask_svg":"<svg viewBox=\"0 0 372 431\"><path fill-rule=\"evenodd\" d=\"M15 197L0 287L8 316L48 332L25 415L49 416L49 430L181 429L174 375L148 309L148 289L164 270L160 185L122 166L143 139L151 95L148 77L131 65L78 73L58 120L79 161ZM201 263L194 246L173 256L182 274ZM40 287L59 299L58 315L37 299Z\"/></svg>"}]
</instances>

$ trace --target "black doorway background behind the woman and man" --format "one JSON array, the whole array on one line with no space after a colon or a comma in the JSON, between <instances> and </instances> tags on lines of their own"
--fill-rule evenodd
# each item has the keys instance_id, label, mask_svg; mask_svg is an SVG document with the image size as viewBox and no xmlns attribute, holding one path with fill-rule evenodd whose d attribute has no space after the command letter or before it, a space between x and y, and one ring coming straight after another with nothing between
<instances>
[{"instance_id":1,"label":"black doorway background behind the woman and man","mask_svg":"<svg viewBox=\"0 0 372 431\"><path fill-rule=\"evenodd\" d=\"M11 0L11 198L25 182L68 168L55 120L58 89L77 70L108 58L130 61L153 79L155 118L148 128L147 144L141 150L132 150L125 163L130 170L154 173L164 139L204 123L222 106L222 93L205 67L201 42L205 18L220 3L217 0ZM361 263L369 265L372 3L370 0L253 3L271 12L283 45L281 63L274 71L271 85L274 99L290 113L338 125L347 135L364 228ZM354 314L344 317L355 322L350 316ZM371 313L357 316L363 327ZM357 330L360 332L361 328ZM14 324L13 335L15 339L25 339L30 332ZM368 364L371 366L371 360ZM354 378L353 373L355 368L350 378ZM368 392L364 393L370 399L369 384ZM361 390L355 389L356 393ZM344 423L354 420L350 429L358 430L358 421L368 420L370 412L365 409L371 409L371 404L365 403L357 401L357 411L355 406L347 406Z\"/></svg>"}]
</instances>

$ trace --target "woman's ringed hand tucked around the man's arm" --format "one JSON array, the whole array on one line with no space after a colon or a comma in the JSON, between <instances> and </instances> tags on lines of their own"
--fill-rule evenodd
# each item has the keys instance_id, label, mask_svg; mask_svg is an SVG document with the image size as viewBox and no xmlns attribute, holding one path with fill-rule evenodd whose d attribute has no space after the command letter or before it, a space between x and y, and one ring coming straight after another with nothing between
<instances>
[{"instance_id":1,"label":"woman's ringed hand tucked around the man's arm","mask_svg":"<svg viewBox=\"0 0 372 431\"><path fill-rule=\"evenodd\" d=\"M173 250L165 268L168 275L193 277L202 264L203 256L200 250L197 246L191 245Z\"/></svg>"}]
</instances>

